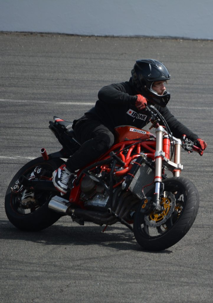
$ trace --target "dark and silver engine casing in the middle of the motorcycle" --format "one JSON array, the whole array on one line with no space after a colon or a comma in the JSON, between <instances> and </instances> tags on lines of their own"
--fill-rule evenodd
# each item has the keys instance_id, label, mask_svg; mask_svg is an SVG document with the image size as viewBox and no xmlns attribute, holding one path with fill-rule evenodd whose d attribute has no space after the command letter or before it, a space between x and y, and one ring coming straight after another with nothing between
<instances>
[{"instance_id":1,"label":"dark and silver engine casing in the middle of the motorcycle","mask_svg":"<svg viewBox=\"0 0 213 303\"><path fill-rule=\"evenodd\" d=\"M86 208L106 211L109 196L104 184L94 175L86 175L81 181L81 200Z\"/></svg>"}]
</instances>

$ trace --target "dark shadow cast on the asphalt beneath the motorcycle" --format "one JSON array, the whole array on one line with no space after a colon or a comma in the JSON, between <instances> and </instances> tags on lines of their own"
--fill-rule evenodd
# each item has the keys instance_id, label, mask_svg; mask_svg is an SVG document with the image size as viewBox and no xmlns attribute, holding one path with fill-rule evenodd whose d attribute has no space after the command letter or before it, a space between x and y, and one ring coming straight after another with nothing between
<instances>
[{"instance_id":1,"label":"dark shadow cast on the asphalt beneath the motorcycle","mask_svg":"<svg viewBox=\"0 0 213 303\"><path fill-rule=\"evenodd\" d=\"M102 232L104 227L92 223L86 226L64 226L57 223L42 231L28 232L15 228L5 220L0 221L0 239L34 242L41 245L64 245L66 248L72 245L98 245L119 251L132 250L155 254L172 252L168 249L158 252L143 250L137 244L133 232L124 225L108 226L105 232Z\"/></svg>"}]
</instances>

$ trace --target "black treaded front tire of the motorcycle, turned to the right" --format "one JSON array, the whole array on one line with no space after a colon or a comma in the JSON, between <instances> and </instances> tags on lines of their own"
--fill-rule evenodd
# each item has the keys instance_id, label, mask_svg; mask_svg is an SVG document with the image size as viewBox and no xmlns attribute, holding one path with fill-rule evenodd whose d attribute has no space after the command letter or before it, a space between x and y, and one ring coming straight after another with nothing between
<instances>
[{"instance_id":1,"label":"black treaded front tire of the motorcycle, turned to the right","mask_svg":"<svg viewBox=\"0 0 213 303\"><path fill-rule=\"evenodd\" d=\"M134 236L142 248L150 251L164 250L180 241L191 228L198 213L198 190L191 181L183 177L173 177L164 180L163 183L166 195L170 197L170 202L172 200L169 205L174 207L170 217L166 218L166 222L156 226L157 219L153 221L153 217L157 218L157 214L151 211L146 215L141 213L143 202L140 203L134 216ZM152 195L153 191L149 192L147 197L152 197ZM165 201L166 199L161 203L163 204ZM151 226L153 222L154 226Z\"/></svg>"}]
</instances>

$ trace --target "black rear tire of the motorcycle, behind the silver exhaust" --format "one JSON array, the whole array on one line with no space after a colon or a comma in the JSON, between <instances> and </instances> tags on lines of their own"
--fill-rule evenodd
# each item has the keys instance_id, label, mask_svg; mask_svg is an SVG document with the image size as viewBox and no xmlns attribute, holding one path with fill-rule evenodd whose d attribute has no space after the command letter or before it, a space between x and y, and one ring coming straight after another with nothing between
<instances>
[{"instance_id":1,"label":"black rear tire of the motorcycle, behind the silver exhaust","mask_svg":"<svg viewBox=\"0 0 213 303\"><path fill-rule=\"evenodd\" d=\"M24 209L20 205L20 195L11 191L11 187L21 175L29 177L36 166L40 166L44 171L44 176L51 178L52 172L56 170L63 161L59 158L44 161L42 157L36 158L25 164L10 182L5 195L5 212L9 221L17 228L25 231L39 231L55 223L61 215L48 208L50 198L56 192L37 192L37 205L29 209ZM60 193L59 193L60 195Z\"/></svg>"}]
</instances>

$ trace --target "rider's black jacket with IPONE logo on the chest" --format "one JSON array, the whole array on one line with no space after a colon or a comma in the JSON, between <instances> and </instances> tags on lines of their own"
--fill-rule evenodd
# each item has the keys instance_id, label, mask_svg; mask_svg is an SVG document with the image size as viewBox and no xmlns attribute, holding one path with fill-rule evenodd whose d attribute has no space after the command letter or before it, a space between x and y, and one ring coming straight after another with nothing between
<instances>
[{"instance_id":1,"label":"rider's black jacket with IPONE logo on the chest","mask_svg":"<svg viewBox=\"0 0 213 303\"><path fill-rule=\"evenodd\" d=\"M98 101L95 107L86 112L86 116L98 119L102 124L114 132L114 128L120 125L131 125L143 128L149 122L146 111L138 111L135 104L135 97L138 92L131 85L131 78L128 82L111 84L104 86L98 92ZM181 138L183 134L191 140L198 138L196 134L179 122L167 107L155 105L157 110L163 115L169 128L176 138Z\"/></svg>"}]
</instances>

